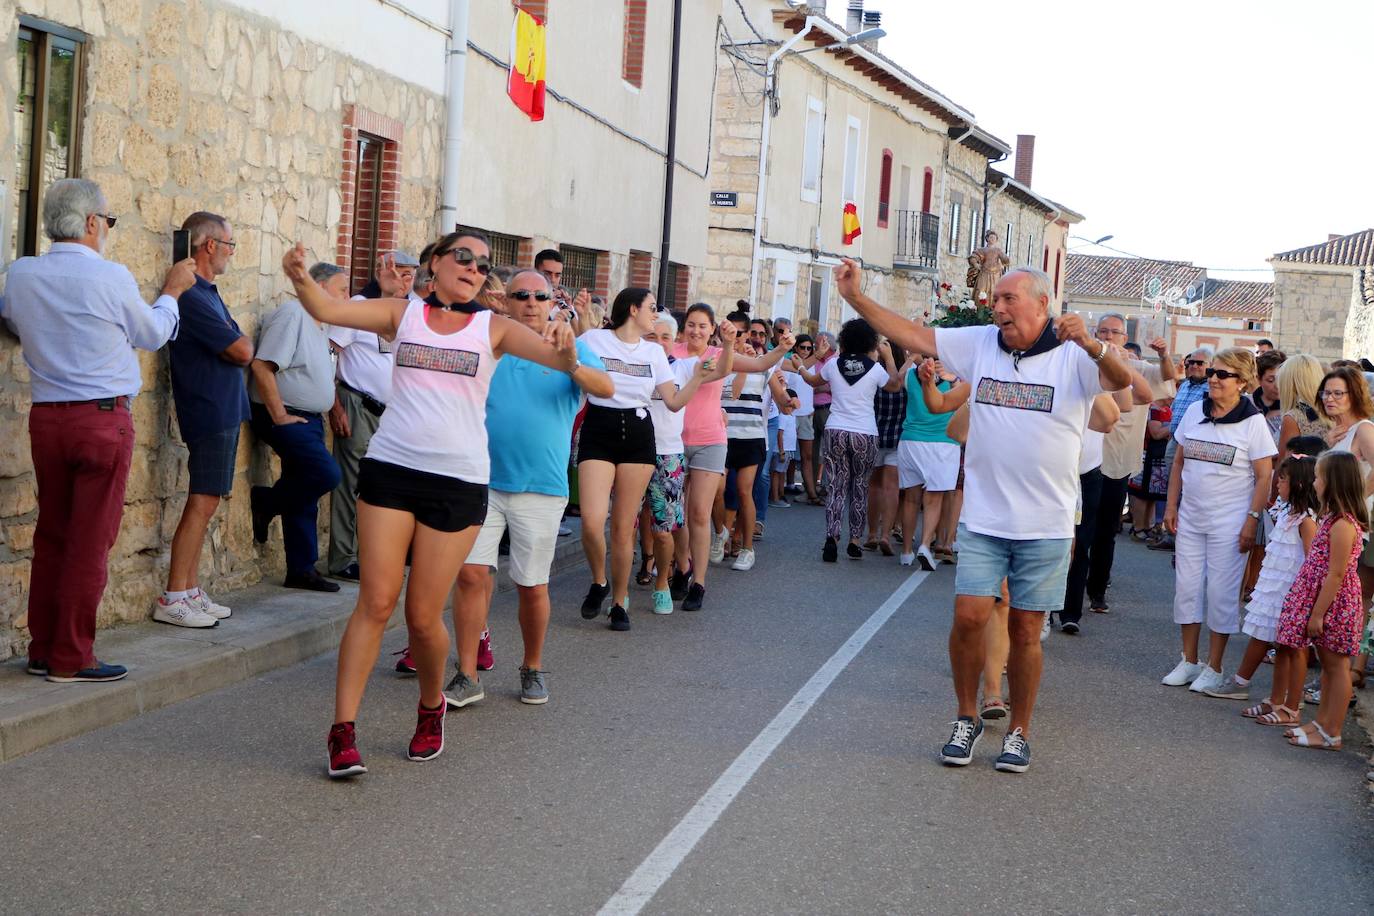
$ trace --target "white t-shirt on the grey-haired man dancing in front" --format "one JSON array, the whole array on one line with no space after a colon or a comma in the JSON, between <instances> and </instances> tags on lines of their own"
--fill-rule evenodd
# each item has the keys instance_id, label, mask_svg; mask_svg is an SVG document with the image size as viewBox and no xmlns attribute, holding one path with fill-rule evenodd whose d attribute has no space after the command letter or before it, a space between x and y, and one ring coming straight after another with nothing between
<instances>
[{"instance_id":1,"label":"white t-shirt on the grey-haired man dancing in front","mask_svg":"<svg viewBox=\"0 0 1374 916\"><path fill-rule=\"evenodd\" d=\"M936 328L936 349L973 387L960 520L1013 541L1073 537L1098 364L1077 343L1059 343L1052 323L1015 357L991 325Z\"/></svg>"}]
</instances>

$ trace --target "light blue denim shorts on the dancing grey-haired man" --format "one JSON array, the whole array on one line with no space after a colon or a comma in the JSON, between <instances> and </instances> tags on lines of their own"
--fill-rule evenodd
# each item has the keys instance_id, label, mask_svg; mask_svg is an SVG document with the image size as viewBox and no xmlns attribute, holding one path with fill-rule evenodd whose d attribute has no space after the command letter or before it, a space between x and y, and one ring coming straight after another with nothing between
<instances>
[{"instance_id":1,"label":"light blue denim shorts on the dancing grey-haired man","mask_svg":"<svg viewBox=\"0 0 1374 916\"><path fill-rule=\"evenodd\" d=\"M1013 541L959 526L959 566L954 593L978 597L1002 595L1007 580L1011 607L1022 611L1061 611L1069 581L1072 537Z\"/></svg>"}]
</instances>

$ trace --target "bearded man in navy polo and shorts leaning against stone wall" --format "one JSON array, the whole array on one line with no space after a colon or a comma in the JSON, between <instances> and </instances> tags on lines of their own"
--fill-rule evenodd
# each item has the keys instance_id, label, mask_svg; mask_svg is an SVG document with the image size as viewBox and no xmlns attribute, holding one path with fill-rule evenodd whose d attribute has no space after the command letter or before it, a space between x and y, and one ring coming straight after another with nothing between
<instances>
[{"instance_id":1,"label":"bearded man in navy polo and shorts leaning against stone wall","mask_svg":"<svg viewBox=\"0 0 1374 916\"><path fill-rule=\"evenodd\" d=\"M253 361L253 342L229 314L214 280L234 257L234 229L214 213L192 213L181 224L191 235L195 286L181 294L181 330L172 341L172 397L181 439L190 450L190 488L176 534L168 591L153 608L154 619L205 626L205 617L225 618L229 608L201 589L198 564L205 531L223 497L234 490L239 426L249 419L243 367ZM198 611L191 614L188 611Z\"/></svg>"}]
</instances>

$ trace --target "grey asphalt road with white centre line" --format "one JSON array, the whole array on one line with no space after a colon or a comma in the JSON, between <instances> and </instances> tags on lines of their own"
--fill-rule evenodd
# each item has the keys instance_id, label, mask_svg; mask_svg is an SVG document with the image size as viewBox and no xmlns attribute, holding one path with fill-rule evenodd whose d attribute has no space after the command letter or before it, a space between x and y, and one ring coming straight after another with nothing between
<instances>
[{"instance_id":1,"label":"grey asphalt road with white centre line","mask_svg":"<svg viewBox=\"0 0 1374 916\"><path fill-rule=\"evenodd\" d=\"M1363 757L1160 687L1167 556L1123 547L1113 612L1051 636L1017 776L1000 726L974 765L936 759L952 567L827 566L820 509L771 520L701 614L636 589L611 633L577 612L583 573L555 580L543 707L517 700L500 596L486 700L431 762L404 758L415 683L383 656L371 772L326 780L322 656L0 766L0 912L595 913L632 876L646 913L1374 912Z\"/></svg>"}]
</instances>

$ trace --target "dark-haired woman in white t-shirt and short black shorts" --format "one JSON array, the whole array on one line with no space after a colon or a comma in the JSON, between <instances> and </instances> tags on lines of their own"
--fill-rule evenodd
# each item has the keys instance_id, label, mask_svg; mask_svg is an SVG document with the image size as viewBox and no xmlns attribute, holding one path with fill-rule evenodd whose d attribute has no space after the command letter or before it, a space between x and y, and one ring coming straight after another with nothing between
<instances>
[{"instance_id":1,"label":"dark-haired woman in white t-shirt and short black shorts","mask_svg":"<svg viewBox=\"0 0 1374 916\"><path fill-rule=\"evenodd\" d=\"M658 306L640 287L621 290L610 306L610 328L581 336L616 382L611 397L588 397L577 439L577 492L583 514L583 551L592 573L583 619L600 615L611 595L610 629L629 629L629 567L635 559L635 518L654 475L658 450L649 404L657 393L672 412L683 409L714 365L702 360L677 387L664 349L644 336ZM614 501L611 500L614 496ZM606 518L610 516L610 575L606 581Z\"/></svg>"}]
</instances>

